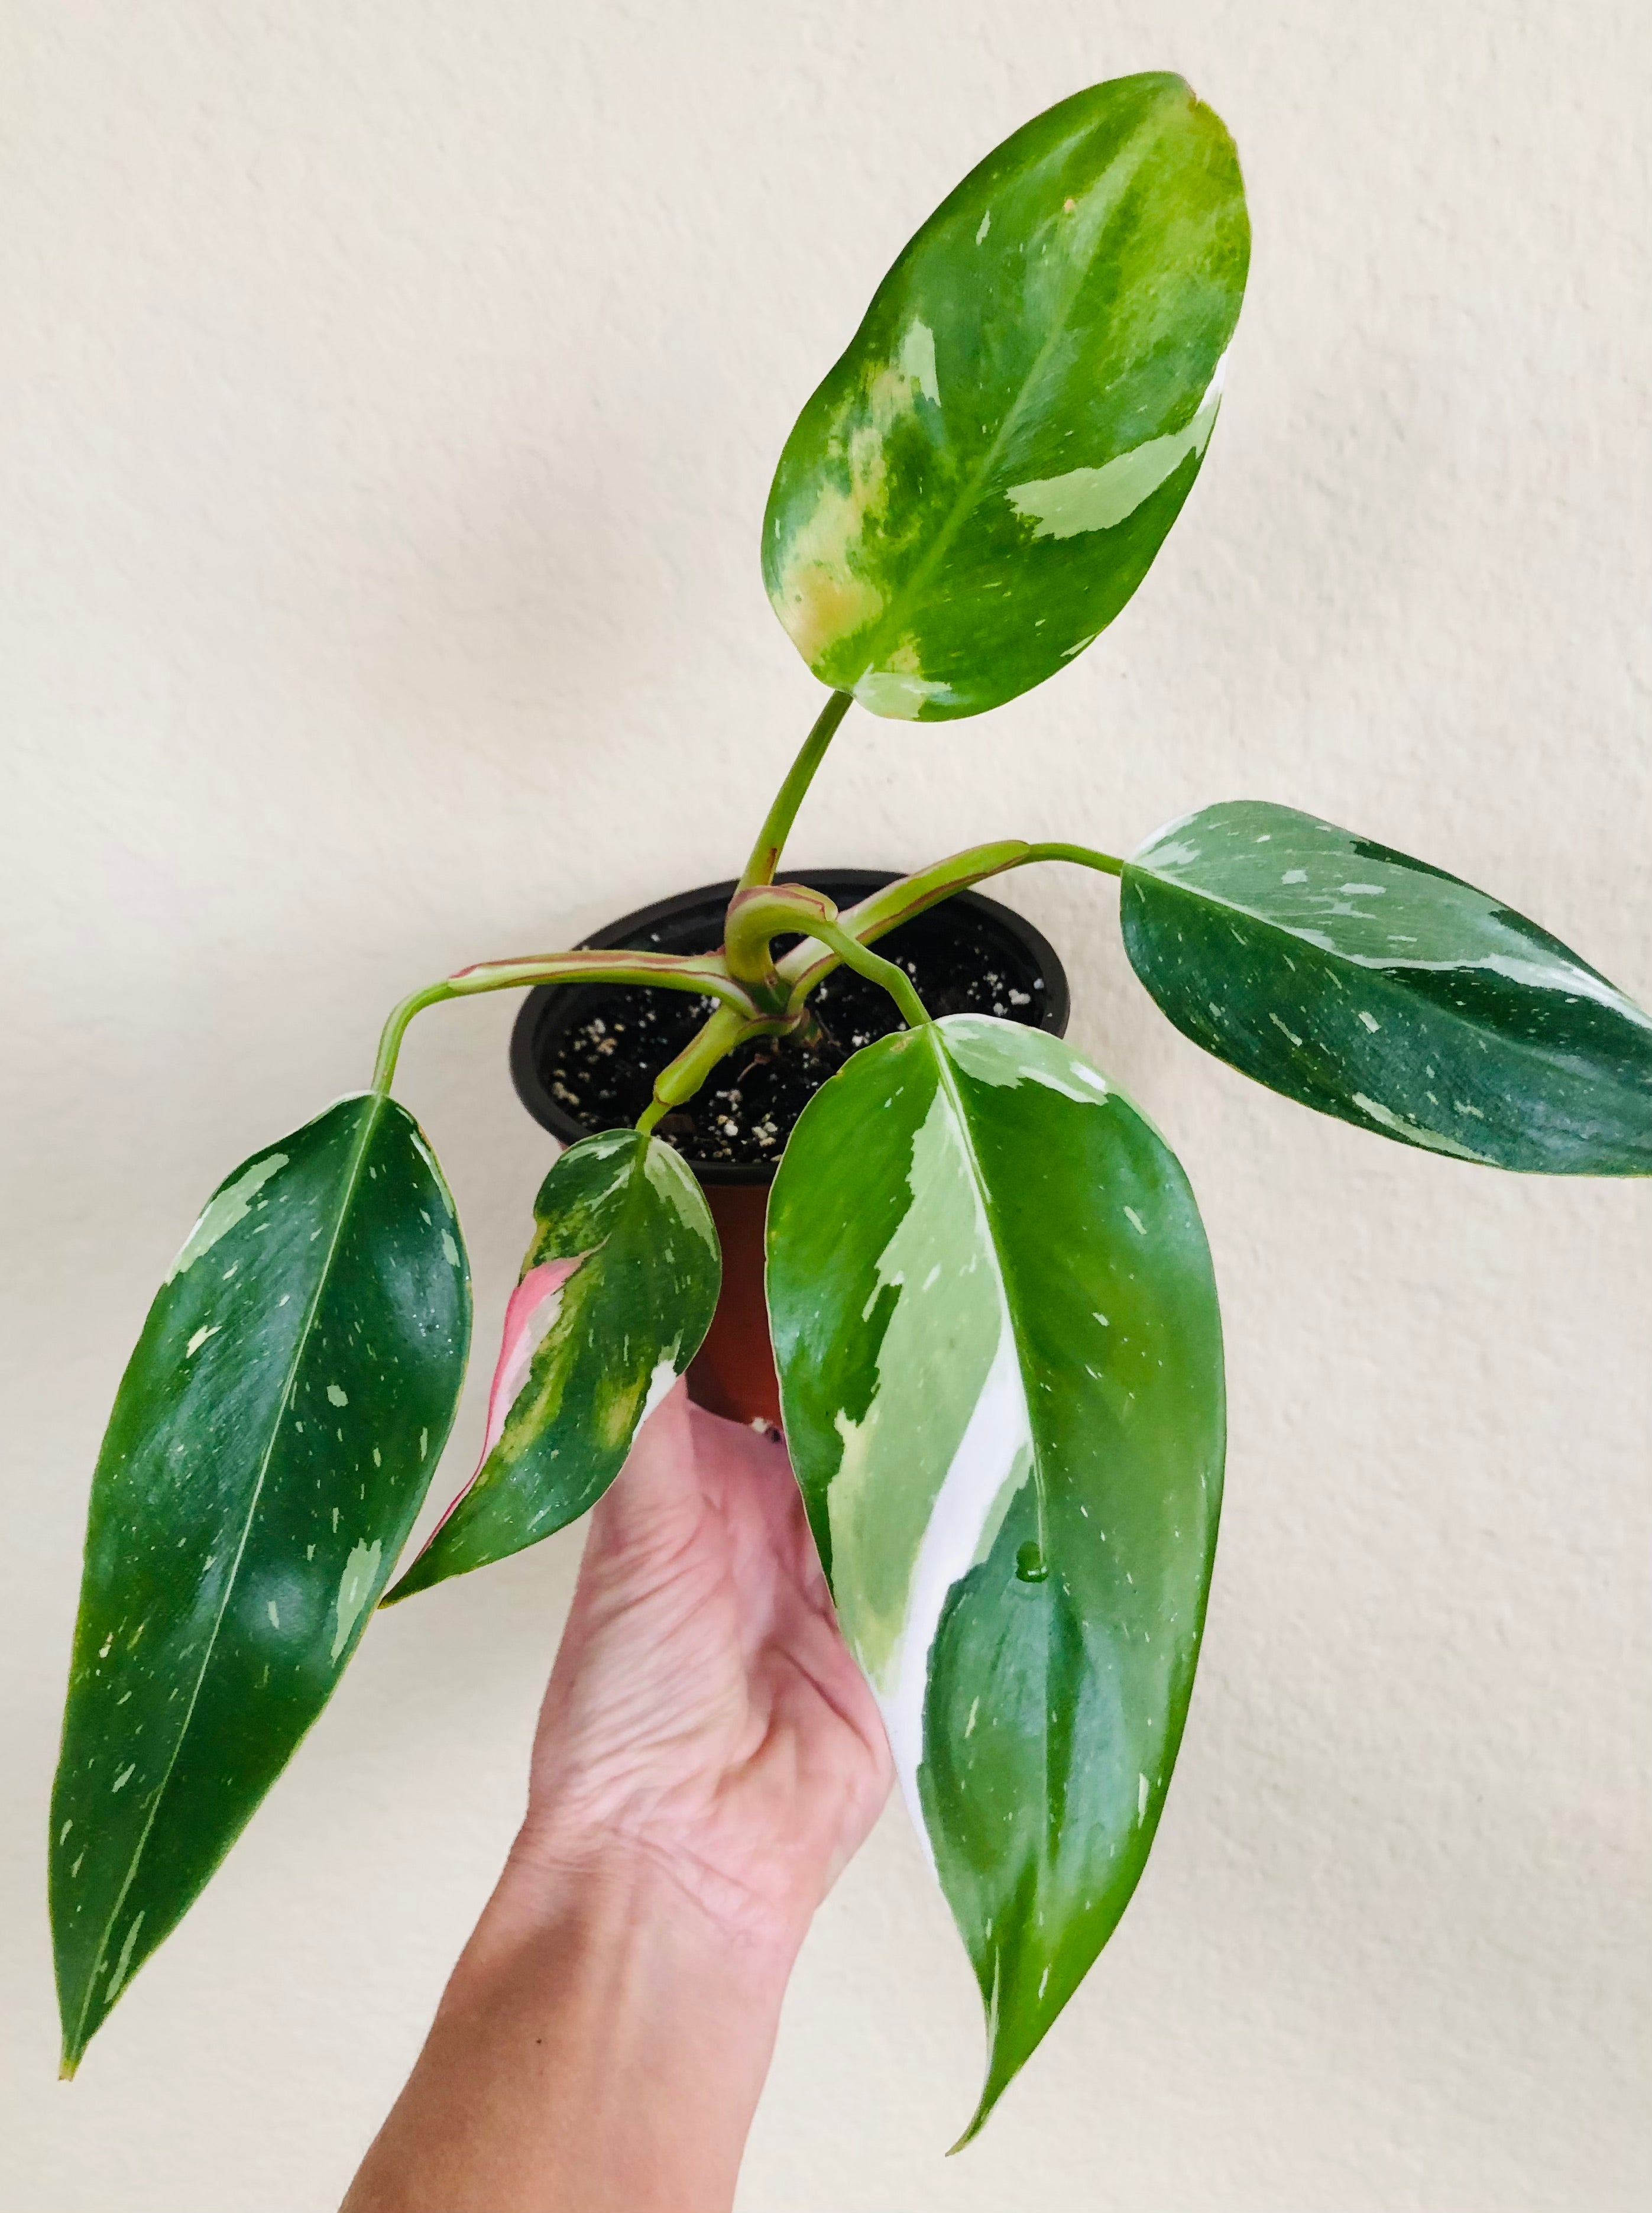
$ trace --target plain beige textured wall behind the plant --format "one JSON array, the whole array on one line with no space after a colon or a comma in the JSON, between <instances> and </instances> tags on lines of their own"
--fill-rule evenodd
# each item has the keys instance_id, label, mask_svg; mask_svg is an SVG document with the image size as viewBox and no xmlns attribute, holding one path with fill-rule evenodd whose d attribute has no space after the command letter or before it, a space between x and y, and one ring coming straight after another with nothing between
<instances>
[{"instance_id":1,"label":"plain beige textured wall behind the plant","mask_svg":"<svg viewBox=\"0 0 1652 2213\"><path fill-rule=\"evenodd\" d=\"M739 859L816 697L756 573L774 456L1008 128L1141 66L1227 117L1221 429L1110 637L980 721L851 717L798 856L1283 799L1652 998L1645 20L11 0L4 2213L325 2209L411 2058L579 1534L374 1629L60 2089L44 1804L104 1410L210 1184L363 1080L391 998ZM1205 1664L1139 1899L982 2144L942 2160L980 2029L896 1812L798 1970L743 2204L1641 2209L1652 1191L1269 1100L1152 1014L1108 885L1011 896L1205 1206ZM509 1020L405 1058L484 1348L546 1164ZM447 1476L478 1427L473 1390Z\"/></svg>"}]
</instances>

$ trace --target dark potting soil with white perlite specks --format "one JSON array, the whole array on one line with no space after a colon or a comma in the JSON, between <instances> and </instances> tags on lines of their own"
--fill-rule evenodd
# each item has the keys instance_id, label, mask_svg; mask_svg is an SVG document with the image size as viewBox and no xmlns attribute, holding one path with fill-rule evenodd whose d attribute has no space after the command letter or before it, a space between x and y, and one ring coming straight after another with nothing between
<instances>
[{"instance_id":1,"label":"dark potting soil with white perlite specks","mask_svg":"<svg viewBox=\"0 0 1652 2213\"><path fill-rule=\"evenodd\" d=\"M712 938L717 943L717 938ZM776 938L776 954L796 938ZM688 945L672 945L688 952ZM708 947L692 947L708 949ZM931 907L878 941L907 969L933 1016L1000 1014L1037 1027L1044 978L1002 929L955 905ZM655 1076L690 1042L714 1000L639 985L579 985L571 1020L546 1025L540 1067L557 1104L588 1131L635 1122L652 1098ZM809 994L820 1038L756 1038L732 1053L657 1135L686 1160L710 1164L776 1162L792 1124L843 1062L900 1029L889 994L849 969L834 969Z\"/></svg>"}]
</instances>

